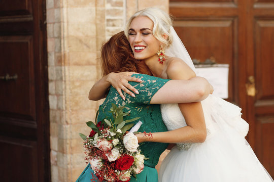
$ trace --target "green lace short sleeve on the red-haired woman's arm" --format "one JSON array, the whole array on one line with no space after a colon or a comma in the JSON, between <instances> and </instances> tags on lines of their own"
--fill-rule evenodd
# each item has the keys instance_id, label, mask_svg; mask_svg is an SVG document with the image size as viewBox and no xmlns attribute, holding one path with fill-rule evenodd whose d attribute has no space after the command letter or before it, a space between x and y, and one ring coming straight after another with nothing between
<instances>
[{"instance_id":1,"label":"green lace short sleeve on the red-haired woman's arm","mask_svg":"<svg viewBox=\"0 0 274 182\"><path fill-rule=\"evenodd\" d=\"M162 79L154 76L149 76L146 74L133 74L132 76L142 79L142 83L130 81L134 88L139 91L139 94L135 94L135 98L128 96L127 99L136 104L146 104L150 103L151 98L158 92L158 90L167 82L169 79ZM127 94L125 94L127 95Z\"/></svg>"}]
</instances>

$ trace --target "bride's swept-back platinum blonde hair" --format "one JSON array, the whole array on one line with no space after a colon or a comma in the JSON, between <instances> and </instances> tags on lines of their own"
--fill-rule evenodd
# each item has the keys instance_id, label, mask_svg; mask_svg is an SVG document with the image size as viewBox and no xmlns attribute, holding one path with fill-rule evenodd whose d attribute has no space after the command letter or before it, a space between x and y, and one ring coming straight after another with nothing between
<instances>
[{"instance_id":1,"label":"bride's swept-back platinum blonde hair","mask_svg":"<svg viewBox=\"0 0 274 182\"><path fill-rule=\"evenodd\" d=\"M153 21L152 34L155 38L160 40L164 47L168 47L172 43L172 37L170 36L170 26L172 26L172 19L170 16L159 8L147 8L140 10L130 17L125 26L125 35L128 39L129 26L132 20L139 16L146 16ZM167 38L163 38L163 34L167 35Z\"/></svg>"}]
</instances>

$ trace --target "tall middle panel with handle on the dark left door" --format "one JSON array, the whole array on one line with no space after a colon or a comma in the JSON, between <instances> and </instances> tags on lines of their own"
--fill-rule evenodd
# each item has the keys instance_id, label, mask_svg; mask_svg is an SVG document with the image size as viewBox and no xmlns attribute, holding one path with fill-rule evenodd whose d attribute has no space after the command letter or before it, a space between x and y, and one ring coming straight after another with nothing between
<instances>
[{"instance_id":1,"label":"tall middle panel with handle on the dark left door","mask_svg":"<svg viewBox=\"0 0 274 182\"><path fill-rule=\"evenodd\" d=\"M32 36L0 37L0 112L35 120L35 81ZM12 52L10 51L12 50ZM15 92L14 91L18 91Z\"/></svg>"}]
</instances>

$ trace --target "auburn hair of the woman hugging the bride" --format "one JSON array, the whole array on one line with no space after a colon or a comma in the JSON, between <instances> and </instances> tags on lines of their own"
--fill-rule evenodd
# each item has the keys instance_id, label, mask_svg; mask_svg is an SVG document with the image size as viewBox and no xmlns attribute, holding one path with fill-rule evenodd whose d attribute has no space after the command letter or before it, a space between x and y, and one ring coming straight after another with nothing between
<instances>
[{"instance_id":1,"label":"auburn hair of the woman hugging the bride","mask_svg":"<svg viewBox=\"0 0 274 182\"><path fill-rule=\"evenodd\" d=\"M121 31L113 35L101 48L102 76L111 72L133 71L152 75L144 61L134 58L130 44Z\"/></svg>"}]
</instances>

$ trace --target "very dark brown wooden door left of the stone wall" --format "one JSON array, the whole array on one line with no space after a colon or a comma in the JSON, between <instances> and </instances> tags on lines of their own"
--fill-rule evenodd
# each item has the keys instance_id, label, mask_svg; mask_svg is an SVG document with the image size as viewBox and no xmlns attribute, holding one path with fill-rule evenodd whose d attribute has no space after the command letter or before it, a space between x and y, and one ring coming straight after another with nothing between
<instances>
[{"instance_id":1,"label":"very dark brown wooden door left of the stone wall","mask_svg":"<svg viewBox=\"0 0 274 182\"><path fill-rule=\"evenodd\" d=\"M50 181L45 1L0 1L0 179Z\"/></svg>"}]
</instances>

